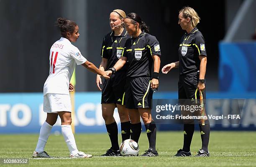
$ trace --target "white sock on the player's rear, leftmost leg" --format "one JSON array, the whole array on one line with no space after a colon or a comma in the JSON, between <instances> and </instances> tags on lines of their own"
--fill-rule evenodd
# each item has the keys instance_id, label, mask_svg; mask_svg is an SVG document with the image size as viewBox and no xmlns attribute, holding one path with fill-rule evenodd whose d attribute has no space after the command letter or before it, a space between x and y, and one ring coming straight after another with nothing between
<instances>
[{"instance_id":1,"label":"white sock on the player's rear, leftmost leg","mask_svg":"<svg viewBox=\"0 0 256 167\"><path fill-rule=\"evenodd\" d=\"M40 134L38 137L38 142L36 145L36 152L43 152L44 151L44 147L46 145L46 142L49 138L49 135L51 133L51 128L52 126L50 124L48 124L46 121L44 122L44 124L42 125L41 129L40 129Z\"/></svg>"}]
</instances>

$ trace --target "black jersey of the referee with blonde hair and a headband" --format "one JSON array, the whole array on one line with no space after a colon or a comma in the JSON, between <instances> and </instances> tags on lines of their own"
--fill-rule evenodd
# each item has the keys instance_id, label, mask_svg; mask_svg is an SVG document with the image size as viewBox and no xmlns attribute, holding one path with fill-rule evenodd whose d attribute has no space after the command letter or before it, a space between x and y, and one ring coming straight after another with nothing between
<instances>
[{"instance_id":1,"label":"black jersey of the referee with blonde hair and a headband","mask_svg":"<svg viewBox=\"0 0 256 167\"><path fill-rule=\"evenodd\" d=\"M108 33L107 35L105 35L102 41L102 51L100 55L102 56L102 58L108 59L107 68L105 70L112 68L119 60L119 58L122 56L125 41L127 40L127 38L131 37L128 35L125 29L123 30L123 33L119 36L115 36L114 34L114 31ZM127 65L124 65L123 68L120 70L126 69Z\"/></svg>"}]
</instances>

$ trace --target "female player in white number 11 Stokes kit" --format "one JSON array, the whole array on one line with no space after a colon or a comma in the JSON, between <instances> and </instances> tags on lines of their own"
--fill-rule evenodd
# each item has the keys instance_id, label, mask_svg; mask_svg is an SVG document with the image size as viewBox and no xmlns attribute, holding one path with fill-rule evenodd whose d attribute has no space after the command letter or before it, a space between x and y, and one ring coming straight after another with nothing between
<instances>
[{"instance_id":1,"label":"female player in white number 11 Stokes kit","mask_svg":"<svg viewBox=\"0 0 256 167\"><path fill-rule=\"evenodd\" d=\"M50 49L50 72L44 83L44 112L47 118L40 129L36 150L33 157L49 158L44 151L52 126L57 117L61 118L61 132L69 148L72 158L90 158L91 154L79 152L71 129L71 101L69 91L73 86L69 84L75 65L82 65L90 71L105 78L110 78L108 73L101 71L95 65L87 61L79 49L71 44L79 37L79 27L71 20L57 19L62 37L57 40Z\"/></svg>"}]
</instances>

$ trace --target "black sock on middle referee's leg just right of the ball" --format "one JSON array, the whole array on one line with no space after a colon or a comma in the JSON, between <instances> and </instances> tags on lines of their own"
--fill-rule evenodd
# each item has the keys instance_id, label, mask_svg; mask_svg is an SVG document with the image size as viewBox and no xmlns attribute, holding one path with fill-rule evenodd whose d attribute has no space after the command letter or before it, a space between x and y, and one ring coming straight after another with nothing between
<instances>
[{"instance_id":1,"label":"black sock on middle referee's leg just right of the ball","mask_svg":"<svg viewBox=\"0 0 256 167\"><path fill-rule=\"evenodd\" d=\"M156 124L154 121L151 121L151 123L145 124L145 127L148 136L149 148L156 151Z\"/></svg>"}]
</instances>

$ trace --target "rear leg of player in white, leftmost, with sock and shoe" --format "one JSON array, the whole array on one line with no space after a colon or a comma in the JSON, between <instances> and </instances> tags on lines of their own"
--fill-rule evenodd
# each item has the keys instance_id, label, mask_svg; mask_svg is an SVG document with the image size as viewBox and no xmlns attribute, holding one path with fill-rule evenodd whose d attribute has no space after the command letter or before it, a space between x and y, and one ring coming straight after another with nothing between
<instances>
[{"instance_id":1,"label":"rear leg of player in white, leftmost, with sock and shoe","mask_svg":"<svg viewBox=\"0 0 256 167\"><path fill-rule=\"evenodd\" d=\"M47 113L46 121L40 129L38 142L36 144L36 150L33 152L33 157L50 158L47 152L44 151L44 147L51 133L51 128L56 123L57 118L57 113Z\"/></svg>"}]
</instances>

